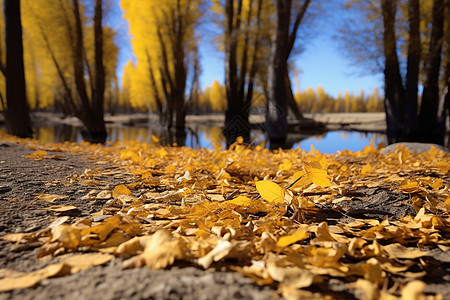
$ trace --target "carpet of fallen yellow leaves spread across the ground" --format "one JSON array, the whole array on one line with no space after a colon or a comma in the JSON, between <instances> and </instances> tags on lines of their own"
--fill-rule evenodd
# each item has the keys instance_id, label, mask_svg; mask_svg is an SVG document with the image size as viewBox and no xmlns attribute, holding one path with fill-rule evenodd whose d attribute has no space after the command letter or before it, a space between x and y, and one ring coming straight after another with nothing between
<instances>
[{"instance_id":1,"label":"carpet of fallen yellow leaves spread across the ground","mask_svg":"<svg viewBox=\"0 0 450 300\"><path fill-rule=\"evenodd\" d=\"M88 154L99 168L70 180L91 185L86 201L105 205L72 224L60 217L45 230L1 237L39 243L39 257L73 254L1 279L3 291L121 259L124 268L162 269L179 261L226 267L260 285L276 285L291 299L311 297L311 288L332 279L366 299L419 299L426 275L421 258L437 247L450 249L450 154L436 148L415 154L398 147L382 154L370 146L324 155L314 149L271 152L239 140L229 150L162 147L156 137L149 145L27 143L36 150L28 159L59 158L47 151ZM131 172L135 182L96 189L98 178L112 172L100 168L106 163ZM361 187L407 194L416 213L383 219L342 213L337 222L323 216L317 221L323 207L351 201L351 192Z\"/></svg>"}]
</instances>

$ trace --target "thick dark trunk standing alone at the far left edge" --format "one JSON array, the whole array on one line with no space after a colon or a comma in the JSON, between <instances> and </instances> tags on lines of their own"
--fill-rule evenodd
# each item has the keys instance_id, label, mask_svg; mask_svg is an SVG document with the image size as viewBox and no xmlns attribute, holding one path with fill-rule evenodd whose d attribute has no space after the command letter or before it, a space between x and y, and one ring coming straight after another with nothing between
<instances>
[{"instance_id":1,"label":"thick dark trunk standing alone at the far left edge","mask_svg":"<svg viewBox=\"0 0 450 300\"><path fill-rule=\"evenodd\" d=\"M31 137L33 132L26 97L20 1L4 0L3 5L6 44L6 125L11 134Z\"/></svg>"}]
</instances>

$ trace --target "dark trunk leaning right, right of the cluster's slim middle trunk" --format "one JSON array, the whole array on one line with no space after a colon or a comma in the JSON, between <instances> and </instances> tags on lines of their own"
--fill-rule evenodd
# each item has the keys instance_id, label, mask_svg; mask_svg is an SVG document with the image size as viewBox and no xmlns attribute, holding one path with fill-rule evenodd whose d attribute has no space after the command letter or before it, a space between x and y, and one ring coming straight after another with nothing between
<instances>
[{"instance_id":1,"label":"dark trunk leaning right, right of the cluster's slim middle trunk","mask_svg":"<svg viewBox=\"0 0 450 300\"><path fill-rule=\"evenodd\" d=\"M444 143L445 119L439 111L439 73L444 39L444 0L434 0L430 48L425 61L425 82L420 106L419 127L421 140Z\"/></svg>"}]
</instances>

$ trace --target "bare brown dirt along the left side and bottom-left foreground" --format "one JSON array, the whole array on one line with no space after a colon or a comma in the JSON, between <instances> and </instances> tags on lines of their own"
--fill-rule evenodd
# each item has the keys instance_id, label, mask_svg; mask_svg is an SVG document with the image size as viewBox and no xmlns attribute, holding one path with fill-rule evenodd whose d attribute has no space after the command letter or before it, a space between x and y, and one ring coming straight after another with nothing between
<instances>
[{"instance_id":1,"label":"bare brown dirt along the left side and bottom-left foreground","mask_svg":"<svg viewBox=\"0 0 450 300\"><path fill-rule=\"evenodd\" d=\"M23 145L0 143L0 236L8 233L36 232L46 228L61 215L46 210L58 205L74 205L69 223L100 210L104 203L83 199L90 186L70 183L71 176L86 169L97 168L81 155L49 152L61 159L34 161L25 158L34 150ZM102 168L117 171L111 165ZM120 172L101 180L101 189L133 181ZM69 184L70 183L70 184ZM41 194L69 195L50 204L36 200ZM38 248L26 249L0 240L0 278L4 269L31 272L57 261L36 258ZM250 278L235 272L200 270L194 267L173 267L170 270L139 268L123 270L119 260L73 275L47 279L35 288L0 293L0 299L273 299L276 291L258 287Z\"/></svg>"}]
</instances>

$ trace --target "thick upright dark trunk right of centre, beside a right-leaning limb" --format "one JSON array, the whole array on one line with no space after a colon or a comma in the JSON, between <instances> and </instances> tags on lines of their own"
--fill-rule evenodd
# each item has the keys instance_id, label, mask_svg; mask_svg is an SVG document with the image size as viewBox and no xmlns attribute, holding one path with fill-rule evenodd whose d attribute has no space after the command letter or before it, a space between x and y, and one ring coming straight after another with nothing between
<instances>
[{"instance_id":1,"label":"thick upright dark trunk right of centre, beside a right-leaning limb","mask_svg":"<svg viewBox=\"0 0 450 300\"><path fill-rule=\"evenodd\" d=\"M288 129L286 74L289 57L290 10L290 0L277 1L275 30L272 37L268 68L268 99L265 123L271 145L284 144Z\"/></svg>"}]
</instances>

